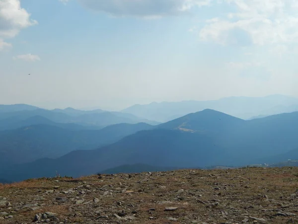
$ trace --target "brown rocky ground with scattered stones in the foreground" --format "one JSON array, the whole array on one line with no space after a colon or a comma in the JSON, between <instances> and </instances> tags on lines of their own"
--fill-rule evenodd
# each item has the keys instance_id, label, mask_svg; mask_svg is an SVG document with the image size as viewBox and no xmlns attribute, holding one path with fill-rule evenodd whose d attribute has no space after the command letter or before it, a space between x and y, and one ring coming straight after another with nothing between
<instances>
[{"instance_id":1,"label":"brown rocky ground with scattered stones in the foreground","mask_svg":"<svg viewBox=\"0 0 298 224\"><path fill-rule=\"evenodd\" d=\"M179 170L0 185L0 224L298 223L298 168Z\"/></svg>"}]
</instances>

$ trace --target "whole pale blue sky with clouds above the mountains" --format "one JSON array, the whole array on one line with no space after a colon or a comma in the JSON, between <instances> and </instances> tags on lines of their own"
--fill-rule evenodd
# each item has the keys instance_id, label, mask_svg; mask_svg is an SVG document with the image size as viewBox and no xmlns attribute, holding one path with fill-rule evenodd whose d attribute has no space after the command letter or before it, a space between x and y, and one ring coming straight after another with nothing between
<instances>
[{"instance_id":1,"label":"whole pale blue sky with clouds above the mountains","mask_svg":"<svg viewBox=\"0 0 298 224\"><path fill-rule=\"evenodd\" d=\"M298 97L297 57L298 0L0 0L0 104Z\"/></svg>"}]
</instances>

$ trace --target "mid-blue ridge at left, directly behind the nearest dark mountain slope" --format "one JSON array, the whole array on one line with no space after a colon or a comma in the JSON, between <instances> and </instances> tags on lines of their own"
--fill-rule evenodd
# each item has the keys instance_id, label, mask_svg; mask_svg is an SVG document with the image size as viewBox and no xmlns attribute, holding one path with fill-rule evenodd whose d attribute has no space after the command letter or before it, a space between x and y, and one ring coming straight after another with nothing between
<instances>
[{"instance_id":1,"label":"mid-blue ridge at left, directly behind the nearest dark mountain slope","mask_svg":"<svg viewBox=\"0 0 298 224\"><path fill-rule=\"evenodd\" d=\"M115 124L100 130L69 130L38 124L0 131L0 167L57 158L78 149L94 149L150 128L149 124L138 123Z\"/></svg>"}]
</instances>

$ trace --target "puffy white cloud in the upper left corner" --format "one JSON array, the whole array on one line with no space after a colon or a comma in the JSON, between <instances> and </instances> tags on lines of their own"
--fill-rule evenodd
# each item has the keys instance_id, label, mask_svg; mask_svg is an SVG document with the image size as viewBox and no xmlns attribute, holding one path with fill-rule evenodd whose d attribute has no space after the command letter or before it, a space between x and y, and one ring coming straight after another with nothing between
<instances>
[{"instance_id":1,"label":"puffy white cloud in the upper left corner","mask_svg":"<svg viewBox=\"0 0 298 224\"><path fill-rule=\"evenodd\" d=\"M30 19L30 14L21 7L20 0L0 0L0 38L12 38L21 29L35 24L37 21Z\"/></svg>"}]
</instances>

